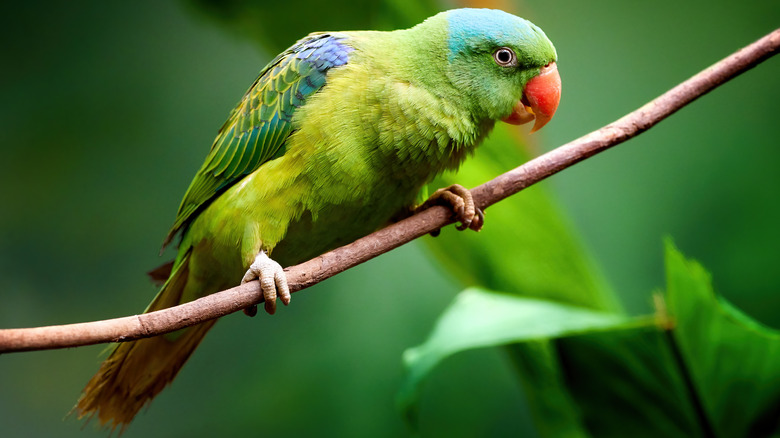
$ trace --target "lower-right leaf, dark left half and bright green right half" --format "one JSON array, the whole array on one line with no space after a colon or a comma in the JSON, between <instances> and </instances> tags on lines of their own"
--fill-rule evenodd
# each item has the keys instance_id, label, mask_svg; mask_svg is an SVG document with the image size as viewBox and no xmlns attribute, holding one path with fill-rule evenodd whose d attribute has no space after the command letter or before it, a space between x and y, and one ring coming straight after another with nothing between
<instances>
[{"instance_id":1,"label":"lower-right leaf, dark left half and bright green right half","mask_svg":"<svg viewBox=\"0 0 780 438\"><path fill-rule=\"evenodd\" d=\"M672 328L554 341L583 429L594 437L776 435L780 333L718 298L710 275L671 242L666 271ZM523 380L529 392L548 391ZM537 419L542 428L556 422Z\"/></svg>"}]
</instances>

